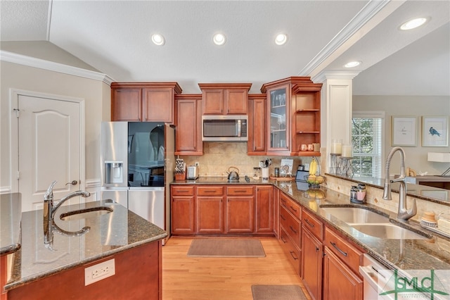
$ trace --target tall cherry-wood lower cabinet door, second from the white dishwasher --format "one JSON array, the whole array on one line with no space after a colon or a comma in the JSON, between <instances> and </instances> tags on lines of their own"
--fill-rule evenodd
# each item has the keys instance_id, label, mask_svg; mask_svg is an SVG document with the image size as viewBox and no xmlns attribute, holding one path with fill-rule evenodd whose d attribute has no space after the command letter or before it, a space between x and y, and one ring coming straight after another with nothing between
<instances>
[{"instance_id":1,"label":"tall cherry-wood lower cabinet door, second from the white dishwasher","mask_svg":"<svg viewBox=\"0 0 450 300\"><path fill-rule=\"evenodd\" d=\"M302 228L302 279L313 299L321 299L322 243ZM336 298L346 299L346 298Z\"/></svg>"}]
</instances>

